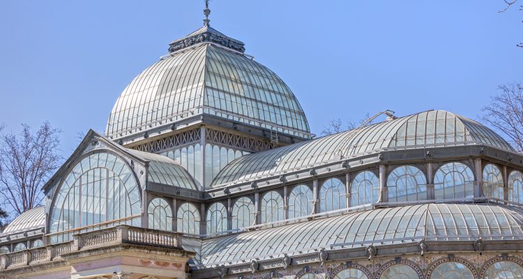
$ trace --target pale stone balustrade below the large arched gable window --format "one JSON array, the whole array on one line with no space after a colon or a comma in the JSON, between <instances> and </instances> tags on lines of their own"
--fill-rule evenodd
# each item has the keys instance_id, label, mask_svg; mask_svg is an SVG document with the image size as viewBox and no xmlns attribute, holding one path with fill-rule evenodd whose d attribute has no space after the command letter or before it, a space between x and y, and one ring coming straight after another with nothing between
<instances>
[{"instance_id":1,"label":"pale stone balustrade below the large arched gable window","mask_svg":"<svg viewBox=\"0 0 523 279\"><path fill-rule=\"evenodd\" d=\"M73 235L73 241L66 243L50 244L0 255L0 269L50 262L61 259L61 255L69 252L119 244L181 248L181 234L119 225L93 232L75 234Z\"/></svg>"}]
</instances>

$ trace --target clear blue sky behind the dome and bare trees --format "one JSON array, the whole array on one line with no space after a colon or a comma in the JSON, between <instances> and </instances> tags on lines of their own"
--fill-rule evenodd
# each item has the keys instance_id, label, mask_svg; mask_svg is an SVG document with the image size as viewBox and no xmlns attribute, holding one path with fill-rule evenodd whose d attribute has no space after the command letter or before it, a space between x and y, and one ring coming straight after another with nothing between
<instances>
[{"instance_id":1,"label":"clear blue sky behind the dome and bare trees","mask_svg":"<svg viewBox=\"0 0 523 279\"><path fill-rule=\"evenodd\" d=\"M50 121L63 156L105 130L119 93L202 26L204 1L1 1L0 123ZM300 100L313 133L390 109L476 118L522 81L523 12L491 1L211 1L211 26L245 43Z\"/></svg>"}]
</instances>

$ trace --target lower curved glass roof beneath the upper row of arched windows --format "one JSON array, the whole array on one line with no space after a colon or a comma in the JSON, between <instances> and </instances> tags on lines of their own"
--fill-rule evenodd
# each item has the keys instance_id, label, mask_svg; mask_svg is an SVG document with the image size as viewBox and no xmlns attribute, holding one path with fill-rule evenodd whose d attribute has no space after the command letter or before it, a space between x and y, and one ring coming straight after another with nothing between
<instances>
[{"instance_id":1,"label":"lower curved glass roof beneath the upper row of arched windows","mask_svg":"<svg viewBox=\"0 0 523 279\"><path fill-rule=\"evenodd\" d=\"M485 214L490 217L485 218ZM283 253L299 255L318 248L379 246L421 239L523 239L523 224L513 218L520 214L519 209L494 204L421 204L372 209L206 239L202 246L202 264L227 265L252 258L271 259ZM474 233L476 223L497 229L494 233ZM430 232L434 229L432 224L437 224L436 235Z\"/></svg>"}]
</instances>

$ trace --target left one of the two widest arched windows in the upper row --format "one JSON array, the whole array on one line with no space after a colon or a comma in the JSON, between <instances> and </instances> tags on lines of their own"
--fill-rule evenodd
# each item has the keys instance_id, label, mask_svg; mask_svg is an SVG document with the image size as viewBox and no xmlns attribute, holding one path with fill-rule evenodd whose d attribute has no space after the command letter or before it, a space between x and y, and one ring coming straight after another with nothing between
<instances>
[{"instance_id":1,"label":"left one of the two widest arched windows in the upper row","mask_svg":"<svg viewBox=\"0 0 523 279\"><path fill-rule=\"evenodd\" d=\"M421 169L410 165L396 167L387 178L389 202L427 199L427 179Z\"/></svg>"}]
</instances>

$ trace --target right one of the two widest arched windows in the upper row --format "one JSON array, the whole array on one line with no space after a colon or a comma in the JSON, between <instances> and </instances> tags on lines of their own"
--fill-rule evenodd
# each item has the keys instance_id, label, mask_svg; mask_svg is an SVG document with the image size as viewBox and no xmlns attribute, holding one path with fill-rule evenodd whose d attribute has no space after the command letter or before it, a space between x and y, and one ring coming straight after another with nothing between
<instances>
[{"instance_id":1,"label":"right one of the two widest arched windows in the upper row","mask_svg":"<svg viewBox=\"0 0 523 279\"><path fill-rule=\"evenodd\" d=\"M474 196L474 175L467 165L446 163L434 175L436 199L464 199Z\"/></svg>"}]
</instances>

